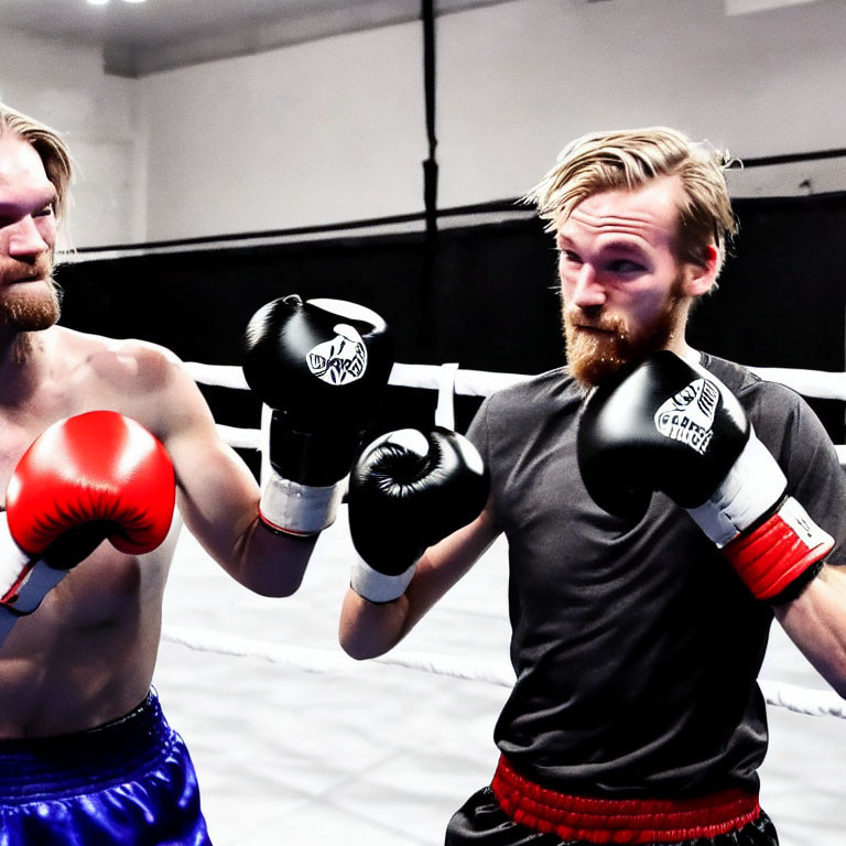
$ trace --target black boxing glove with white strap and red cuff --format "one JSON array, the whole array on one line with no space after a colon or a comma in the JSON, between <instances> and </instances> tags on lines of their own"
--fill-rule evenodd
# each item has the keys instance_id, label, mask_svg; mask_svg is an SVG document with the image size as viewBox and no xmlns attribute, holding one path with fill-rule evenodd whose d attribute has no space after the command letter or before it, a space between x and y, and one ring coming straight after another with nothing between
<instances>
[{"instance_id":1,"label":"black boxing glove with white strap and red cuff","mask_svg":"<svg viewBox=\"0 0 846 846\"><path fill-rule=\"evenodd\" d=\"M713 373L668 350L593 392L577 455L597 505L638 517L652 491L663 491L759 599L803 583L834 546L787 495L784 474L737 398Z\"/></svg>"}]
</instances>

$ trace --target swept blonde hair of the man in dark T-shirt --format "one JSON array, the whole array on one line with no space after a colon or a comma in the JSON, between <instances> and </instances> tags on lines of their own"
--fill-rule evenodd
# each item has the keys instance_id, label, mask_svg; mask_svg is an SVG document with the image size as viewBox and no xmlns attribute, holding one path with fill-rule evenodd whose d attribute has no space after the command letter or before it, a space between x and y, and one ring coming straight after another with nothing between
<instances>
[{"instance_id":1,"label":"swept blonde hair of the man in dark T-shirt","mask_svg":"<svg viewBox=\"0 0 846 846\"><path fill-rule=\"evenodd\" d=\"M567 144L555 165L523 198L556 228L582 200L604 191L632 189L661 176L682 183L677 253L683 261L702 264L714 246L718 270L727 243L737 231L725 171L733 163L727 152L707 142L693 142L666 127L592 132Z\"/></svg>"}]
</instances>

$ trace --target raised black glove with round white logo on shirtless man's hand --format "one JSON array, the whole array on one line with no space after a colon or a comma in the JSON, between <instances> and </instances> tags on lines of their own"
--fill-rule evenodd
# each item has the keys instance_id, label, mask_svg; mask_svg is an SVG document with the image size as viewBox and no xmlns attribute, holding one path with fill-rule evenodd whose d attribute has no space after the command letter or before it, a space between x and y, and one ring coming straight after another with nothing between
<instances>
[{"instance_id":1,"label":"raised black glove with round white logo on shirtless man's hand","mask_svg":"<svg viewBox=\"0 0 846 846\"><path fill-rule=\"evenodd\" d=\"M242 367L273 410L259 505L269 528L310 535L332 524L392 366L384 321L356 303L294 294L252 316Z\"/></svg>"}]
</instances>

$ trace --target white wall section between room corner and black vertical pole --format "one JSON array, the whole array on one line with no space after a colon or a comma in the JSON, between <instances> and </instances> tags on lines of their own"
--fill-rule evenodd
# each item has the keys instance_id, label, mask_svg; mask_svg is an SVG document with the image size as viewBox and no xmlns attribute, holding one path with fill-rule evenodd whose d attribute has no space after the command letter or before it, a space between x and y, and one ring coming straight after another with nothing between
<instances>
[{"instance_id":1,"label":"white wall section between room corner and black vertical pole","mask_svg":"<svg viewBox=\"0 0 846 846\"><path fill-rule=\"evenodd\" d=\"M143 80L150 238L417 210L422 37L390 26Z\"/></svg>"}]
</instances>

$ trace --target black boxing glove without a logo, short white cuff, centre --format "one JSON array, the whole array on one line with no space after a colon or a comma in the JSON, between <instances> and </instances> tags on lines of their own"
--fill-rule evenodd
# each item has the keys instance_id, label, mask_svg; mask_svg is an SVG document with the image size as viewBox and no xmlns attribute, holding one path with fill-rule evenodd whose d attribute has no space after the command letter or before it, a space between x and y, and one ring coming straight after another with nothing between
<instances>
[{"instance_id":1,"label":"black boxing glove without a logo, short white cuff, centre","mask_svg":"<svg viewBox=\"0 0 846 846\"><path fill-rule=\"evenodd\" d=\"M467 438L436 427L390 432L349 478L349 531L359 557L350 586L372 603L402 596L429 546L475 520L490 487Z\"/></svg>"}]
</instances>

